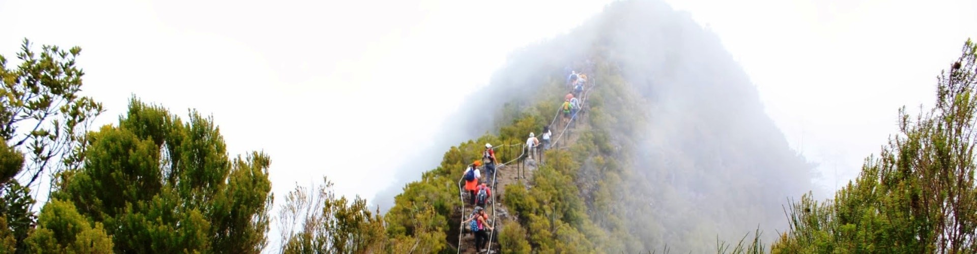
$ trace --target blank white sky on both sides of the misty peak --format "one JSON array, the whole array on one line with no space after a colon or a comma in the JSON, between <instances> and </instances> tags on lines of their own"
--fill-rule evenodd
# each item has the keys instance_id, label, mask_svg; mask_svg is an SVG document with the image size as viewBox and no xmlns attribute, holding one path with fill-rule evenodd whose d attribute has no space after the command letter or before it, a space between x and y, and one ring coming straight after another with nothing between
<instances>
[{"instance_id":1,"label":"blank white sky on both sides of the misty peak","mask_svg":"<svg viewBox=\"0 0 977 254\"><path fill-rule=\"evenodd\" d=\"M81 46L101 123L133 94L197 108L232 154L270 153L277 193L327 175L372 198L511 50L607 2L0 0L0 54L24 37ZM977 36L973 0L667 2L719 34L831 189L834 167L855 177L896 109L932 101L934 77Z\"/></svg>"}]
</instances>

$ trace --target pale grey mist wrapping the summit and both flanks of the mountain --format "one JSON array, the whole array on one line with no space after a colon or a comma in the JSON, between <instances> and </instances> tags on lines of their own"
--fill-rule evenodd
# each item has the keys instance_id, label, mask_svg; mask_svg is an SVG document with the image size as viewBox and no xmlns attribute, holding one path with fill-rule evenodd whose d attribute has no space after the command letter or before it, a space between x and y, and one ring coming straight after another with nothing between
<instances>
[{"instance_id":1,"label":"pale grey mist wrapping the summit and both flanks of the mountain","mask_svg":"<svg viewBox=\"0 0 977 254\"><path fill-rule=\"evenodd\" d=\"M811 191L814 165L787 146L718 37L659 1L616 2L567 34L512 53L434 143L499 135L499 127L523 116L513 110L556 106L562 94L555 84L587 63L597 72L591 75L600 90L595 104L607 111L591 121L613 147L601 155L620 169L604 173L607 166L576 158L573 178L590 221L626 221L623 232L633 238L608 244L703 252L714 251L717 238L738 240L760 230L769 242L786 230L783 205ZM402 172L415 179L421 170ZM381 206L403 187L379 194ZM595 204L602 191L613 193L606 207L617 207L606 208L608 215Z\"/></svg>"}]
</instances>

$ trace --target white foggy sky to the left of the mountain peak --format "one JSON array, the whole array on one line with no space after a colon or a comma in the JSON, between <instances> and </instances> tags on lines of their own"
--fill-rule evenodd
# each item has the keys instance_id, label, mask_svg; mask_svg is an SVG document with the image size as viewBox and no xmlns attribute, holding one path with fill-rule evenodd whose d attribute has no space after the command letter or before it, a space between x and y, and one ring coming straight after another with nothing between
<instances>
[{"instance_id":1,"label":"white foggy sky to the left of the mountain peak","mask_svg":"<svg viewBox=\"0 0 977 254\"><path fill-rule=\"evenodd\" d=\"M272 157L276 201L327 176L338 194L385 210L379 191L399 192L488 130L458 106L488 100L473 93L507 53L604 3L9 0L0 53L23 38L79 46L82 94L107 110L96 125L116 122L132 96L180 116L196 108L214 116L232 155Z\"/></svg>"}]
</instances>

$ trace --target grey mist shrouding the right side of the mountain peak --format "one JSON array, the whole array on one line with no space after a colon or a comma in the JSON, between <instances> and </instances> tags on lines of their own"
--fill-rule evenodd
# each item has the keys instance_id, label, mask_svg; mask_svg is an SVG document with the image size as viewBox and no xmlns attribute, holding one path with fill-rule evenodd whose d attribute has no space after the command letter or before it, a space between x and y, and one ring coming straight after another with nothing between
<instances>
[{"instance_id":1,"label":"grey mist shrouding the right side of the mountain peak","mask_svg":"<svg viewBox=\"0 0 977 254\"><path fill-rule=\"evenodd\" d=\"M654 206L648 224L676 252L714 250L786 230L782 205L812 189L814 164L787 145L756 88L719 38L660 2L618 4L604 20L612 63L649 100L634 170ZM646 204L628 204L641 209ZM641 207L634 207L641 206ZM654 241L654 240L653 240Z\"/></svg>"}]
</instances>

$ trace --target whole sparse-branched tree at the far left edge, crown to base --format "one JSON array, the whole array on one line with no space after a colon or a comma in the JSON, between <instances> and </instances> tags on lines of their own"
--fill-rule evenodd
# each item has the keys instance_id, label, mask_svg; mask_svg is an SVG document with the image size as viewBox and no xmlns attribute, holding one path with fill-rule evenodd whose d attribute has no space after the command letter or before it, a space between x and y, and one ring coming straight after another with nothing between
<instances>
[{"instance_id":1,"label":"whole sparse-branched tree at the far left edge, crown to base","mask_svg":"<svg viewBox=\"0 0 977 254\"><path fill-rule=\"evenodd\" d=\"M31 190L43 173L80 165L85 132L102 105L80 97L84 71L75 66L81 48L44 45L31 50L24 39L16 67L0 55L0 214L18 248L34 223ZM25 159L26 155L26 159ZM20 177L18 177L20 176Z\"/></svg>"}]
</instances>

